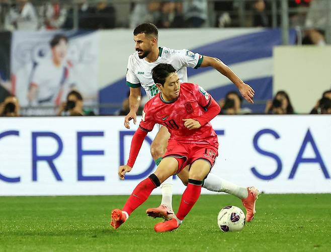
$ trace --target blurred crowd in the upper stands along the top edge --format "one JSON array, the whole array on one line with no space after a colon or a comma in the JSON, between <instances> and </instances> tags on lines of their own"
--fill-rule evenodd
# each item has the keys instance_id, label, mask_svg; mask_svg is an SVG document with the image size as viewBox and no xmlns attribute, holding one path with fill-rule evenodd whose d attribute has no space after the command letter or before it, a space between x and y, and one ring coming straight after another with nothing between
<instances>
[{"instance_id":1,"label":"blurred crowd in the upper stands along the top edge","mask_svg":"<svg viewBox=\"0 0 331 252\"><path fill-rule=\"evenodd\" d=\"M331 22L327 18L331 16L328 2L288 0L290 27L302 28L299 43L325 44L325 31L330 25L327 22ZM72 3L77 7L77 19ZM144 22L158 28L279 27L280 3L278 0L135 0L131 4L109 0L0 0L0 29L72 29L75 20L79 29L134 28Z\"/></svg>"}]
</instances>

